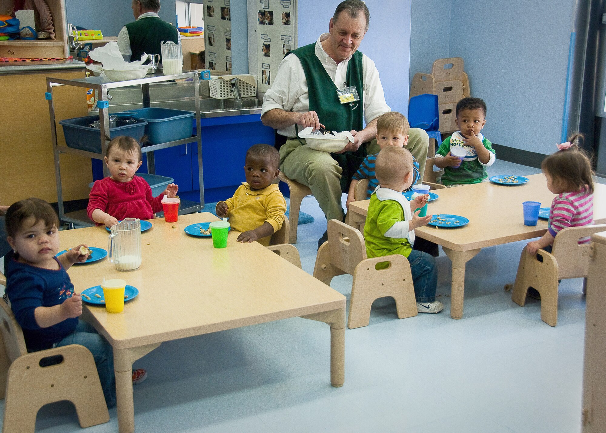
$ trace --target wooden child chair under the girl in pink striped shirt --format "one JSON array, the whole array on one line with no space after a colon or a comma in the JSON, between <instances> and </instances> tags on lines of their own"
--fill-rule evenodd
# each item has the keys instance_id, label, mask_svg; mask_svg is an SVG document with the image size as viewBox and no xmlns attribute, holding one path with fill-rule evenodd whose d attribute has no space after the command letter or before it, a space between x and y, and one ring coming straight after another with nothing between
<instances>
[{"instance_id":1,"label":"wooden child chair under the girl in pink striped shirt","mask_svg":"<svg viewBox=\"0 0 606 433\"><path fill-rule=\"evenodd\" d=\"M579 244L579 238L606 230L606 224L594 226L567 227L556 235L551 253L540 249L536 254L522 250L518 274L513 284L511 300L523 307L528 287L534 287L541 294L541 320L550 326L558 323L558 280L585 278L591 254L591 243ZM541 256L542 261L539 261ZM511 284L505 285L511 290ZM585 290L585 289L584 289Z\"/></svg>"}]
</instances>

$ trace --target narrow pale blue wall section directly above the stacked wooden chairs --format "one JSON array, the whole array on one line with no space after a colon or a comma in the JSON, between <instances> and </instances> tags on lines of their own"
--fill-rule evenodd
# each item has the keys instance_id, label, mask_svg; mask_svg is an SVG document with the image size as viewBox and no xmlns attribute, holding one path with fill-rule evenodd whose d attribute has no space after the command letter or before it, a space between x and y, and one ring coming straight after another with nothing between
<instances>
[{"instance_id":1,"label":"narrow pale blue wall section directly above the stacked wooden chairs","mask_svg":"<svg viewBox=\"0 0 606 433\"><path fill-rule=\"evenodd\" d=\"M450 50L451 0L413 0L410 23L410 80L417 72L431 73L436 59Z\"/></svg>"}]
</instances>

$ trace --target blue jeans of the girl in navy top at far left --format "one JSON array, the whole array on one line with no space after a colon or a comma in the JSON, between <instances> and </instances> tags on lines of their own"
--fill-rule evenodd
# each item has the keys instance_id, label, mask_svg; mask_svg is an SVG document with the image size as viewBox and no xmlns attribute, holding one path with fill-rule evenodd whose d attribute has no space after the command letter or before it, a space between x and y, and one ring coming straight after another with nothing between
<instances>
[{"instance_id":1,"label":"blue jeans of the girl in navy top at far left","mask_svg":"<svg viewBox=\"0 0 606 433\"><path fill-rule=\"evenodd\" d=\"M108 408L116 406L116 375L113 369L112 345L99 335L94 327L82 320L78 321L76 330L59 341L55 347L69 344L81 344L93 354L105 403Z\"/></svg>"}]
</instances>

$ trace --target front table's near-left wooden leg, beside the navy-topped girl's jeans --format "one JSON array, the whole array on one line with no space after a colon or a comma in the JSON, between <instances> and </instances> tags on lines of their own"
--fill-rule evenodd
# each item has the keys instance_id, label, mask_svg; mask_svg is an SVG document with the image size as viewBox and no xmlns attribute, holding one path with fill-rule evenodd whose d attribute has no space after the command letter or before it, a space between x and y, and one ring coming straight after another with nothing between
<instances>
[{"instance_id":1,"label":"front table's near-left wooden leg, beside the navy-topped girl's jeans","mask_svg":"<svg viewBox=\"0 0 606 433\"><path fill-rule=\"evenodd\" d=\"M116 374L116 406L118 409L118 431L135 431L135 404L133 402L133 362L147 355L160 343L131 349L114 349L114 372Z\"/></svg>"}]
</instances>

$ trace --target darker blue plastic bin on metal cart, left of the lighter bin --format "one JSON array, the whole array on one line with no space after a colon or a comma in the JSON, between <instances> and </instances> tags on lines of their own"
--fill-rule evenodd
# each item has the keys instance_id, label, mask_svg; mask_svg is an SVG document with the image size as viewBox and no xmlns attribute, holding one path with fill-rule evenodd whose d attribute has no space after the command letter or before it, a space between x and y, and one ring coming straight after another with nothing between
<instances>
[{"instance_id":1,"label":"darker blue plastic bin on metal cart, left of the lighter bin","mask_svg":"<svg viewBox=\"0 0 606 433\"><path fill-rule=\"evenodd\" d=\"M95 116L85 116L60 120L59 124L63 127L67 147L101 153L101 132L90 127L90 124L97 119ZM141 141L145 133L145 125L147 125L146 121L137 119L135 124L110 128L110 139L127 135Z\"/></svg>"}]
</instances>

